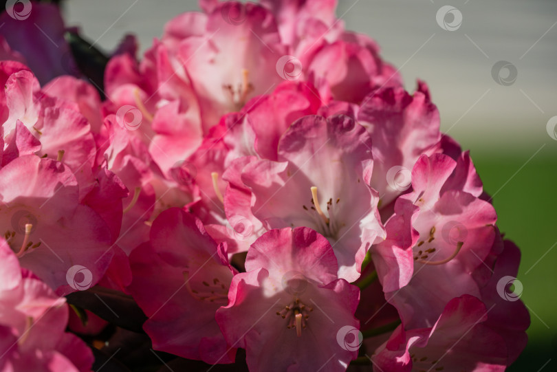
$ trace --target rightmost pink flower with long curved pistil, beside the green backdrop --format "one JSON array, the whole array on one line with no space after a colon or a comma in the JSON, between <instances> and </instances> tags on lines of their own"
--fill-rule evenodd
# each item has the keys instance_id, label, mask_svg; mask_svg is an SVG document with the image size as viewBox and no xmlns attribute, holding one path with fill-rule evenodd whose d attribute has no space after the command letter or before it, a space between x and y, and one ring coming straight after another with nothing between
<instances>
[{"instance_id":1,"label":"rightmost pink flower with long curved pistil, beside the green backdrop","mask_svg":"<svg viewBox=\"0 0 557 372\"><path fill-rule=\"evenodd\" d=\"M433 325L451 298L479 296L471 274L491 250L496 215L487 201L450 188L462 184L455 177L466 175L456 167L457 162L447 155L419 158L413 168L413 191L397 199L392 217L397 226L397 213L404 210L402 219L411 221L411 226L402 223L392 231L401 234L411 228L406 230L411 234L410 248L396 252L401 248L387 239L374 250L386 296L392 296L390 301L407 327ZM393 269L382 267L382 262ZM389 294L394 291L396 295Z\"/></svg>"}]
</instances>

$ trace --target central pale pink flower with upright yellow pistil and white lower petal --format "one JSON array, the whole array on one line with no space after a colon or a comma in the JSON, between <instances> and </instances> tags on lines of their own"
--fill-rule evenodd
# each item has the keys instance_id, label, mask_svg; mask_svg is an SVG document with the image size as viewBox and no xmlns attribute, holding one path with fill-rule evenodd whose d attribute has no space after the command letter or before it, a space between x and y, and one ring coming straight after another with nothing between
<instances>
[{"instance_id":1,"label":"central pale pink flower with upright yellow pistil and white lower petal","mask_svg":"<svg viewBox=\"0 0 557 372\"><path fill-rule=\"evenodd\" d=\"M250 162L241 173L251 205L226 199L227 214L253 214L267 229L307 226L323 234L338 259L339 276L358 278L367 249L384 239L370 188L371 138L347 116L306 116L279 142L279 162Z\"/></svg>"}]
</instances>

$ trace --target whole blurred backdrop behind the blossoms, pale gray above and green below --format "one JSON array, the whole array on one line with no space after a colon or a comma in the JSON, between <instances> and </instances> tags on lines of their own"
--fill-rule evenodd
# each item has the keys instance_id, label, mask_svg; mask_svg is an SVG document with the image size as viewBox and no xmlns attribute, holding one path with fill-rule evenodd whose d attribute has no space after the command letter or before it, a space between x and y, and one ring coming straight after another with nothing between
<instances>
[{"instance_id":1,"label":"whole blurred backdrop behind the blossoms, pale gray above and green below","mask_svg":"<svg viewBox=\"0 0 557 372\"><path fill-rule=\"evenodd\" d=\"M67 23L105 50L131 32L144 51L168 19L199 9L197 0L65 5ZM452 32L436 21L445 5L462 14ZM416 78L426 80L441 129L470 149L494 195L501 231L523 252L518 279L532 325L527 348L509 371L557 371L557 140L546 131L557 116L557 1L340 0L337 15L347 29L378 41L409 91ZM516 67L514 83L494 80L498 61Z\"/></svg>"}]
</instances>

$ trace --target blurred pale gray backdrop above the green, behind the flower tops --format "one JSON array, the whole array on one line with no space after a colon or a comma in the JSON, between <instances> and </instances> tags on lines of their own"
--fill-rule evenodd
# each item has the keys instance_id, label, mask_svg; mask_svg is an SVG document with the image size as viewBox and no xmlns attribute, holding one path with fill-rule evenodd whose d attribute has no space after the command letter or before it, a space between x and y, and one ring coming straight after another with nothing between
<instances>
[{"instance_id":1,"label":"blurred pale gray backdrop above the green, behind the flower tops","mask_svg":"<svg viewBox=\"0 0 557 372\"><path fill-rule=\"evenodd\" d=\"M445 5L462 14L455 31L436 21ZM191 10L199 10L197 1L72 0L65 18L104 50L133 32L143 52L168 19ZM551 142L546 123L557 115L557 1L340 0L337 15L348 30L378 41L408 90L417 78L427 81L442 129L465 147L521 151ZM492 78L501 60L516 67L512 85ZM503 69L501 77L506 74Z\"/></svg>"}]
</instances>

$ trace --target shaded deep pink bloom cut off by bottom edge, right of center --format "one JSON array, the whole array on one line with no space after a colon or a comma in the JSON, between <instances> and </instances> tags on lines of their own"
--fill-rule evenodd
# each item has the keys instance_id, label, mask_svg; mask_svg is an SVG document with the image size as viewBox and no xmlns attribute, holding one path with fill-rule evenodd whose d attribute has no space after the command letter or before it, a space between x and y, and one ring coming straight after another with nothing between
<instances>
[{"instance_id":1,"label":"shaded deep pink bloom cut off by bottom edge, right of center","mask_svg":"<svg viewBox=\"0 0 557 372\"><path fill-rule=\"evenodd\" d=\"M488 309L477 298L450 300L433 327L395 330L373 357L375 371L504 371L503 338L485 326Z\"/></svg>"}]
</instances>

